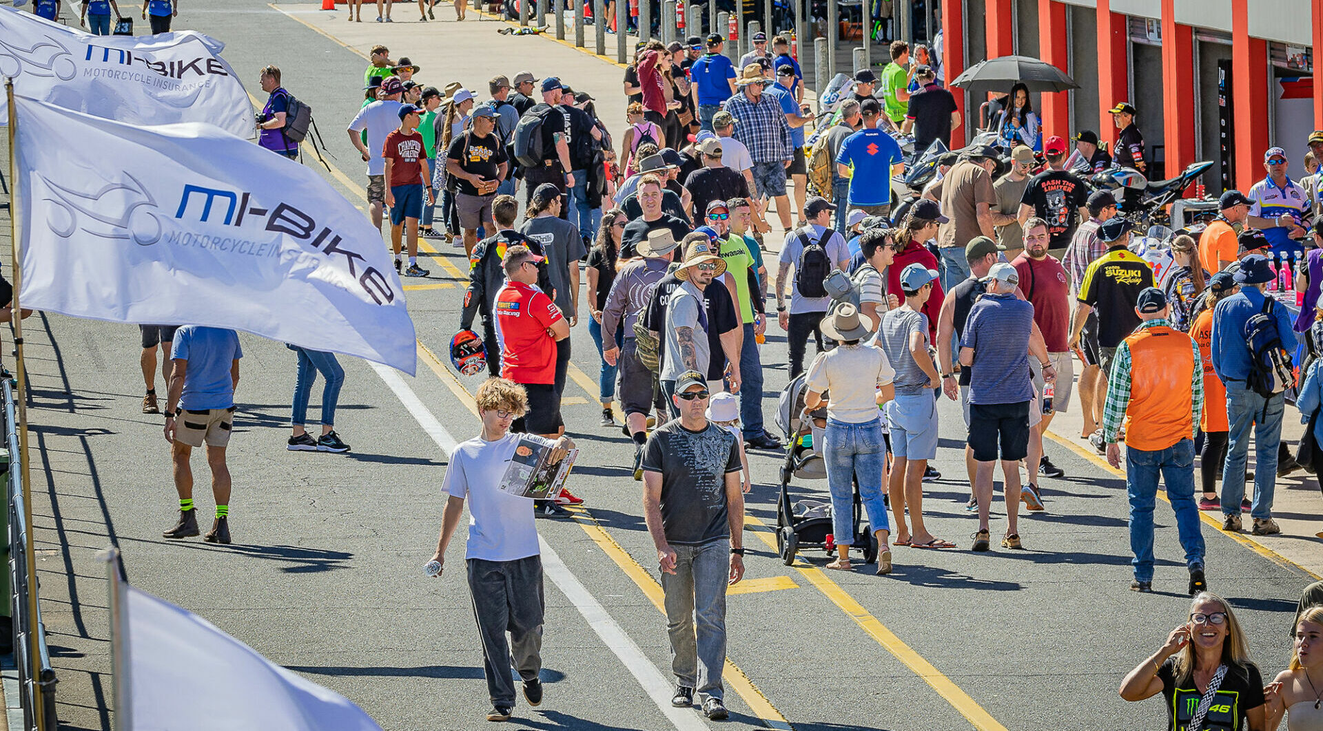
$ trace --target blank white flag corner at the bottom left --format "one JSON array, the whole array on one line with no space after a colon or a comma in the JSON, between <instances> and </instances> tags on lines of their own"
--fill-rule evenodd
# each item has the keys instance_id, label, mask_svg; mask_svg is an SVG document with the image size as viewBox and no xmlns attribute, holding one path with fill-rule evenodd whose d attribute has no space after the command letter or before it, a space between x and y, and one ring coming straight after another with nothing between
<instances>
[{"instance_id":1,"label":"blank white flag corner at the bottom left","mask_svg":"<svg viewBox=\"0 0 1323 731\"><path fill-rule=\"evenodd\" d=\"M202 617L131 586L130 731L381 731L348 698L266 660ZM126 682L127 681L127 682Z\"/></svg>"}]
</instances>

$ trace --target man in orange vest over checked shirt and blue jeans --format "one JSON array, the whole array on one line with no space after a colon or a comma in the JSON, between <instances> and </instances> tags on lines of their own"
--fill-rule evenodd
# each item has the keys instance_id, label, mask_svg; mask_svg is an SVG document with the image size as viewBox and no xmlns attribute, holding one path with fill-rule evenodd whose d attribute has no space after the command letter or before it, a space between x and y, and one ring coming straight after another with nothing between
<instances>
[{"instance_id":1,"label":"man in orange vest over checked shirt and blue jeans","mask_svg":"<svg viewBox=\"0 0 1323 731\"><path fill-rule=\"evenodd\" d=\"M1107 464L1121 467L1117 435L1126 419L1126 492L1130 493L1130 550L1135 580L1130 591L1150 592L1154 582L1154 497L1158 473L1176 512L1185 549L1189 595L1205 591L1204 535L1195 505L1195 430L1204 410L1204 358L1188 334L1167 323L1167 297L1139 292L1139 328L1117 346L1102 412Z\"/></svg>"}]
</instances>

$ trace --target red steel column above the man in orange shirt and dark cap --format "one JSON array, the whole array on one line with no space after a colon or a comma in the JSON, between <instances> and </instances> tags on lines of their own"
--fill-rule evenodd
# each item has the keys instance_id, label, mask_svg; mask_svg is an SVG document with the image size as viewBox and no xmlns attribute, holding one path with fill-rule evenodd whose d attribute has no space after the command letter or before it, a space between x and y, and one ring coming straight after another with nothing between
<instances>
[{"instance_id":1,"label":"red steel column above the man in orange shirt and dark cap","mask_svg":"<svg viewBox=\"0 0 1323 731\"><path fill-rule=\"evenodd\" d=\"M1263 177L1267 149L1267 44L1249 36L1249 0L1232 0L1232 91L1236 120L1236 185Z\"/></svg>"}]
</instances>

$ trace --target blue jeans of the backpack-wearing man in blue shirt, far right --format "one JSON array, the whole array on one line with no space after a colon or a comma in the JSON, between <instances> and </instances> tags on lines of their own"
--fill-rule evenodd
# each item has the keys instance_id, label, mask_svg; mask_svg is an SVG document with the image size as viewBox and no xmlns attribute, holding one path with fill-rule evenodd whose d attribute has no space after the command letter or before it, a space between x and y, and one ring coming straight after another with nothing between
<instances>
[{"instance_id":1,"label":"blue jeans of the backpack-wearing man in blue shirt, far right","mask_svg":"<svg viewBox=\"0 0 1323 731\"><path fill-rule=\"evenodd\" d=\"M1226 381L1226 463L1222 465L1222 513L1240 516L1245 498L1245 463L1249 457L1249 428L1254 427L1254 504L1250 516L1273 517L1273 490L1277 486L1277 448L1282 440L1282 412L1286 401L1278 394L1265 399L1244 381Z\"/></svg>"}]
</instances>

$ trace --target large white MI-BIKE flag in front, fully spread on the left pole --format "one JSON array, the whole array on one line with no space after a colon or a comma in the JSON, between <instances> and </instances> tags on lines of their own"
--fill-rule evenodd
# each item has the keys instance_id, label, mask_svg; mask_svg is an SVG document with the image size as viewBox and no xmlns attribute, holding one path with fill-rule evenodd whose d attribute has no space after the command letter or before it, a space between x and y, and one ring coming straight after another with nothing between
<instances>
[{"instance_id":1,"label":"large white MI-BIKE flag in front, fully spread on the left pole","mask_svg":"<svg viewBox=\"0 0 1323 731\"><path fill-rule=\"evenodd\" d=\"M210 124L15 107L24 307L234 328L414 373L380 231L311 169Z\"/></svg>"}]
</instances>

